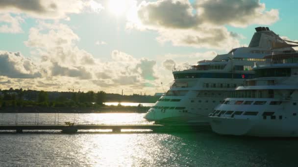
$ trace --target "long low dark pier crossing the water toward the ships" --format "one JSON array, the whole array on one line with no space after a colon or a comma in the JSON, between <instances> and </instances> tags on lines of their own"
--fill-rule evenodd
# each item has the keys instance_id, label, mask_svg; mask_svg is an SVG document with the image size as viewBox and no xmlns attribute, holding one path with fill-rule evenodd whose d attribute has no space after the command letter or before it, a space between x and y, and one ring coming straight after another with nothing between
<instances>
[{"instance_id":1,"label":"long low dark pier crossing the water toward the ships","mask_svg":"<svg viewBox=\"0 0 298 167\"><path fill-rule=\"evenodd\" d=\"M22 133L23 130L61 130L62 133L75 133L78 130L90 129L111 129L112 132L121 132L121 129L150 129L156 132L169 132L169 131L197 131L210 129L209 125L155 125L155 124L74 124L66 123L49 123L49 122L0 122L0 130L16 130L17 133Z\"/></svg>"}]
</instances>

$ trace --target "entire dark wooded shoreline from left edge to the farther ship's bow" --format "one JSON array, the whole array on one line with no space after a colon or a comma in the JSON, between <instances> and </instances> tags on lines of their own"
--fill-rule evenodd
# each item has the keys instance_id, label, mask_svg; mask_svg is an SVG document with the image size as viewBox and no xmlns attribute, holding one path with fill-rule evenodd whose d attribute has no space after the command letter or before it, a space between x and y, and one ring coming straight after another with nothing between
<instances>
[{"instance_id":1,"label":"entire dark wooded shoreline from left edge to the farther ship's bow","mask_svg":"<svg viewBox=\"0 0 298 167\"><path fill-rule=\"evenodd\" d=\"M159 97L107 94L104 91L47 92L37 90L0 90L0 108L5 107L71 107L99 108L104 102L155 103Z\"/></svg>"}]
</instances>

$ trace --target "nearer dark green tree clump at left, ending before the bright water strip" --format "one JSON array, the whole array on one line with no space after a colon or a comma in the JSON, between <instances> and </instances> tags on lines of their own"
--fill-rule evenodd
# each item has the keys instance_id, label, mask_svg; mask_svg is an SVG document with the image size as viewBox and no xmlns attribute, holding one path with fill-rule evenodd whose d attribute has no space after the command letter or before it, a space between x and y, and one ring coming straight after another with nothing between
<instances>
[{"instance_id":1,"label":"nearer dark green tree clump at left, ending before the bright water strip","mask_svg":"<svg viewBox=\"0 0 298 167\"><path fill-rule=\"evenodd\" d=\"M47 92L12 88L1 90L0 107L95 107L105 102L106 93L93 92Z\"/></svg>"}]
</instances>

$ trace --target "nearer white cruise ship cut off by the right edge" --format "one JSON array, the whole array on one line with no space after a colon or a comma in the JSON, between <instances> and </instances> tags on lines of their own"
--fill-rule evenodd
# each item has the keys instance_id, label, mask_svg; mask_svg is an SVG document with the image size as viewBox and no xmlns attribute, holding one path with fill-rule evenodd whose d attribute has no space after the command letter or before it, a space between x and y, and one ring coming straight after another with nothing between
<instances>
[{"instance_id":1,"label":"nearer white cruise ship cut off by the right edge","mask_svg":"<svg viewBox=\"0 0 298 167\"><path fill-rule=\"evenodd\" d=\"M212 130L225 135L298 137L298 53L266 56L246 81L210 113Z\"/></svg>"}]
</instances>

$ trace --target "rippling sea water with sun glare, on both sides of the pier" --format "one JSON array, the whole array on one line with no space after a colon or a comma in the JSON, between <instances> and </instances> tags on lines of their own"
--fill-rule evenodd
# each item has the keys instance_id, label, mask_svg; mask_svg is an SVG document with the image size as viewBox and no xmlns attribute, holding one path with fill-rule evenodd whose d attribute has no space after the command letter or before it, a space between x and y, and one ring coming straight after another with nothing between
<instances>
[{"instance_id":1,"label":"rippling sea water with sun glare, on both sides of the pier","mask_svg":"<svg viewBox=\"0 0 298 167\"><path fill-rule=\"evenodd\" d=\"M147 124L144 114L62 114L59 122ZM35 113L0 113L0 121L37 121ZM39 113L38 121L58 121ZM281 167L297 166L297 138L221 136L213 132L0 132L0 167Z\"/></svg>"}]
</instances>

